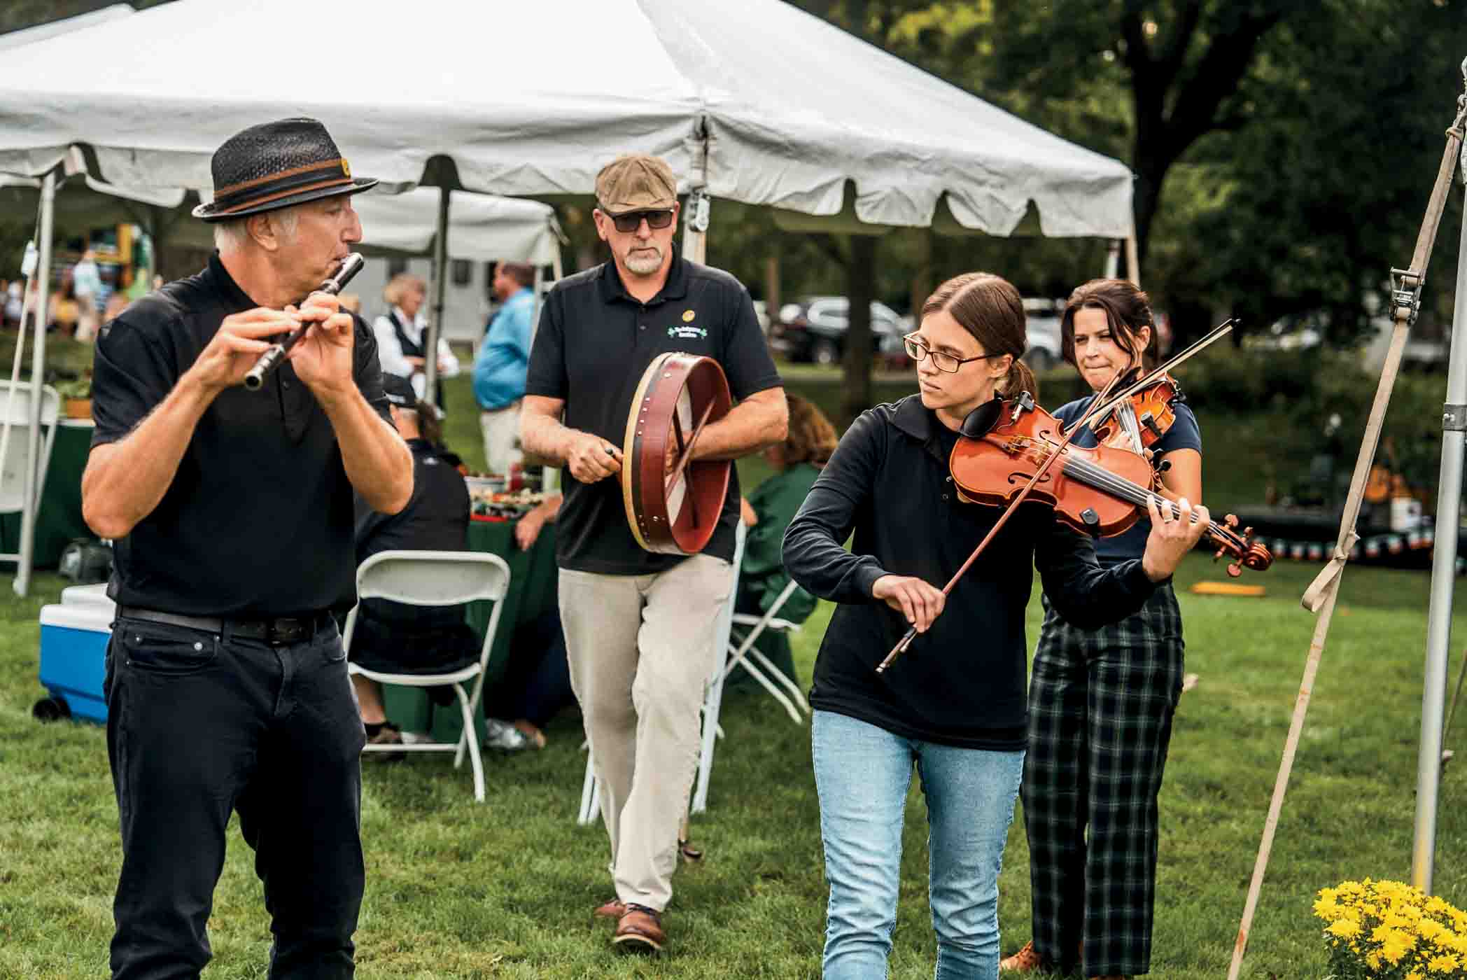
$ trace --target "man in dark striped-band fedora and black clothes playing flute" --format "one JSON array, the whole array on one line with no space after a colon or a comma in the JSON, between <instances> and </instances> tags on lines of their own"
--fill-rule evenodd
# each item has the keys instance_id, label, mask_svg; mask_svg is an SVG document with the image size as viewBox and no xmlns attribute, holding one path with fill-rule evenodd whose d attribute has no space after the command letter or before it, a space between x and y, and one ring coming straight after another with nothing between
<instances>
[{"instance_id":1,"label":"man in dark striped-band fedora and black clothes playing flute","mask_svg":"<svg viewBox=\"0 0 1467 980\"><path fill-rule=\"evenodd\" d=\"M219 251L97 340L87 524L114 541L107 754L122 830L114 980L197 977L232 811L255 849L270 977L352 976L361 720L332 618L355 600L354 490L402 509L371 330L311 293L361 239L321 123L213 158ZM258 392L267 337L308 324Z\"/></svg>"}]
</instances>

